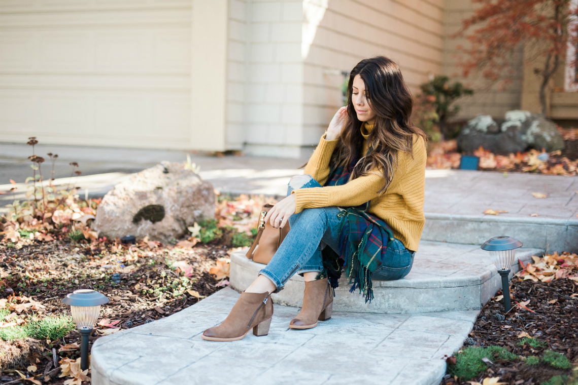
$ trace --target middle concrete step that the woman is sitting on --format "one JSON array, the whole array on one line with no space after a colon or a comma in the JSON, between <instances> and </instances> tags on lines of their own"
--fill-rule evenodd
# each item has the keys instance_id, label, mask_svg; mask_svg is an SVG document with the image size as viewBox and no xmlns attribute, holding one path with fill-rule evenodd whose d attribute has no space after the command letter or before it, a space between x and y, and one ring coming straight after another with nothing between
<instances>
[{"instance_id":1,"label":"middle concrete step that the woman is sitting on","mask_svg":"<svg viewBox=\"0 0 578 385\"><path fill-rule=\"evenodd\" d=\"M521 261L542 255L538 248L520 248ZM264 265L248 260L245 252L231 255L231 287L244 290ZM519 264L512 266L512 275ZM421 241L412 271L398 281L373 281L375 298L370 304L356 291L349 292L344 276L335 290L334 309L362 313L423 313L477 310L501 287L501 278L491 263L490 253L479 245ZM272 295L276 304L301 307L305 281L294 275L280 293Z\"/></svg>"}]
</instances>

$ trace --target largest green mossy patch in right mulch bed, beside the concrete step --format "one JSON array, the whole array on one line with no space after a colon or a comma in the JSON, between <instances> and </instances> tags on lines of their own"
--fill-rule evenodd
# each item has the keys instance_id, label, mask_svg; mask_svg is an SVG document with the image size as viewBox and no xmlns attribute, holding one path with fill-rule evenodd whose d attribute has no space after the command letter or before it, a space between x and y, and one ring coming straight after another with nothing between
<instances>
[{"instance_id":1,"label":"largest green mossy patch in right mulch bed, beside the concrete step","mask_svg":"<svg viewBox=\"0 0 578 385\"><path fill-rule=\"evenodd\" d=\"M484 357L492 362L497 360L515 361L518 359L516 354L510 353L500 346L471 346L462 350L462 353L455 354L455 365L449 365L447 372L452 376L460 377L462 381L469 381L486 370L486 362L481 360Z\"/></svg>"}]
</instances>

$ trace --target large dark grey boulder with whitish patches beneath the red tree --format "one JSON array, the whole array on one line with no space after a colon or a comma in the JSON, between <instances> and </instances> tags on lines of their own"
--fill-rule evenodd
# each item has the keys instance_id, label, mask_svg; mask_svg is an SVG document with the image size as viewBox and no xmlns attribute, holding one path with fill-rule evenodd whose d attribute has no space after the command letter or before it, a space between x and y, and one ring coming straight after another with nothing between
<instances>
[{"instance_id":1,"label":"large dark grey boulder with whitish patches beneath the red tree","mask_svg":"<svg viewBox=\"0 0 578 385\"><path fill-rule=\"evenodd\" d=\"M524 152L530 148L546 152L564 149L564 140L554 122L528 111L507 111L504 120L477 115L458 136L458 150L471 153L480 145L495 154Z\"/></svg>"}]
</instances>

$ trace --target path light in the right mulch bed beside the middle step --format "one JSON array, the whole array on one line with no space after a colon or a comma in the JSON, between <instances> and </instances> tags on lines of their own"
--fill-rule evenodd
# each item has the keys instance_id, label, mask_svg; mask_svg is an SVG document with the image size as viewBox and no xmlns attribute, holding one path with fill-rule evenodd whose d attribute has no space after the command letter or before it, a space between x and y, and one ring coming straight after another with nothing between
<instances>
[{"instance_id":1,"label":"path light in the right mulch bed beside the middle step","mask_svg":"<svg viewBox=\"0 0 578 385\"><path fill-rule=\"evenodd\" d=\"M482 250L490 252L492 263L498 269L499 275L502 276L502 293L504 300L504 312L507 313L512 309L510 304L510 286L508 277L510 275L510 266L516 260L516 249L522 246L522 242L507 236L490 238L483 245Z\"/></svg>"}]
</instances>

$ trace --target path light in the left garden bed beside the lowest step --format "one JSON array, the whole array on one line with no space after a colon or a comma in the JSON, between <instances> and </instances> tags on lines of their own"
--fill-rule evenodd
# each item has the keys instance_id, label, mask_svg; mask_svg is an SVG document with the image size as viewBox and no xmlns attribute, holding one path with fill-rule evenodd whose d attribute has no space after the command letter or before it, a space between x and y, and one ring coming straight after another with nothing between
<instances>
[{"instance_id":1,"label":"path light in the left garden bed beside the lowest step","mask_svg":"<svg viewBox=\"0 0 578 385\"><path fill-rule=\"evenodd\" d=\"M67 294L64 300L71 306L72 319L82 336L80 350L80 369L88 369L88 337L101 312L101 305L108 304L109 299L92 289L79 289Z\"/></svg>"}]
</instances>

